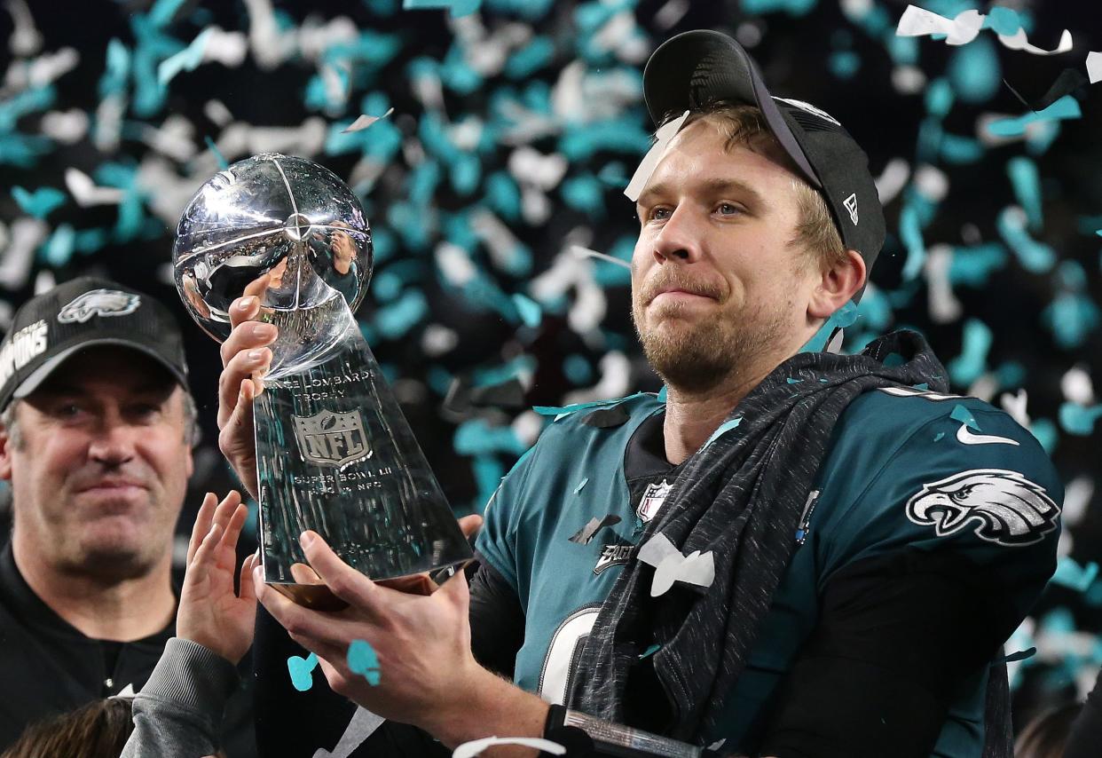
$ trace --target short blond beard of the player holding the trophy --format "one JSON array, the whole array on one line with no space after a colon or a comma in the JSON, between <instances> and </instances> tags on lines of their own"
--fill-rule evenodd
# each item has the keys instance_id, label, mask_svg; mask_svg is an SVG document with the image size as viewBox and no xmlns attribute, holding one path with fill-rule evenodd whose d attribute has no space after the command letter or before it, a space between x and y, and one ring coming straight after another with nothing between
<instances>
[{"instance_id":1,"label":"short blond beard of the player holding the trophy","mask_svg":"<svg viewBox=\"0 0 1102 758\"><path fill-rule=\"evenodd\" d=\"M691 323L667 316L665 323L644 333L633 305L631 322L647 361L662 381L682 391L702 392L756 370L753 367L761 357L777 349L788 311L778 303L774 308L759 304L752 312L748 307L734 314L716 311Z\"/></svg>"}]
</instances>

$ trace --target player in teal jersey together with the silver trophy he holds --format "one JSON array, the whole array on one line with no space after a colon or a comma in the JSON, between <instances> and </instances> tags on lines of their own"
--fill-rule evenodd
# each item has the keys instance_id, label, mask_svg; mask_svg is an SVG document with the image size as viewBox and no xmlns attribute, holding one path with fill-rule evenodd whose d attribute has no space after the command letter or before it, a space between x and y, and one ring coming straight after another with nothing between
<instances>
[{"instance_id":1,"label":"player in teal jersey together with the silver trophy he holds","mask_svg":"<svg viewBox=\"0 0 1102 758\"><path fill-rule=\"evenodd\" d=\"M918 335L822 351L884 239L833 117L773 97L713 32L659 47L644 88L666 126L639 177L633 317L668 397L563 409L487 506L469 587L443 578L468 554L356 297L325 284L344 262L301 243L357 240L366 284L361 214L311 207L346 195L283 156L193 201L177 278L197 268L225 314L193 312L225 339L219 445L260 499L260 603L335 692L447 747L998 755L1000 648L1055 567L1058 477L1006 414L946 394ZM251 269L244 296L226 267ZM375 678L349 663L363 642Z\"/></svg>"}]
</instances>

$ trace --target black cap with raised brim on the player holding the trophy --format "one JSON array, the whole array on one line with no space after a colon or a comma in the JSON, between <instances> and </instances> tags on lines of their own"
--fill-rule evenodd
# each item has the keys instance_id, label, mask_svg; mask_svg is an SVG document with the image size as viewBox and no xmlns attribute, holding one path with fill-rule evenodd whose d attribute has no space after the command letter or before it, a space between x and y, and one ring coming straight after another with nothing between
<instances>
[{"instance_id":1,"label":"black cap with raised brim on the player holding the trophy","mask_svg":"<svg viewBox=\"0 0 1102 758\"><path fill-rule=\"evenodd\" d=\"M861 253L872 271L884 246L884 209L868 158L838 119L771 95L743 46L710 30L684 32L659 45L644 69L642 93L656 123L716 100L757 106L800 173L825 197L846 249Z\"/></svg>"}]
</instances>

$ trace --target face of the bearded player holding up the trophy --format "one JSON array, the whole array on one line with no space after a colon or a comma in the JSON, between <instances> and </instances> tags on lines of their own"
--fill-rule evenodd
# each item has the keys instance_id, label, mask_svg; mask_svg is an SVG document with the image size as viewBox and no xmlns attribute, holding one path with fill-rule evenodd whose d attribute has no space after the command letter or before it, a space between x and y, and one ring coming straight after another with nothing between
<instances>
[{"instance_id":1,"label":"face of the bearded player holding up the trophy","mask_svg":"<svg viewBox=\"0 0 1102 758\"><path fill-rule=\"evenodd\" d=\"M760 145L726 144L710 119L682 129L640 194L631 260L631 316L647 359L690 391L799 349L819 282L793 243L800 180Z\"/></svg>"}]
</instances>

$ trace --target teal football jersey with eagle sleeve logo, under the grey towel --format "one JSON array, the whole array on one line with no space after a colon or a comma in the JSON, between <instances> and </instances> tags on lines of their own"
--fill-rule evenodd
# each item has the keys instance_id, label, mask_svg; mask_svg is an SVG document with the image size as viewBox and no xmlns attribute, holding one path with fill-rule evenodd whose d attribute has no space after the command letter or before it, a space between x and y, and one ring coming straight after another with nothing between
<instances>
[{"instance_id":1,"label":"teal football jersey with eagle sleeve logo, under the grey towel","mask_svg":"<svg viewBox=\"0 0 1102 758\"><path fill-rule=\"evenodd\" d=\"M648 488L631 502L624 457L639 425L665 405L639 394L619 408L627 421L604 429L582 423L590 408L558 416L503 480L478 537L478 551L525 610L515 681L551 703L564 701L572 676L585 675L574 668L582 642L661 500ZM992 595L1009 598L1024 617L1056 567L1062 498L1037 441L986 402L911 388L858 397L833 431L792 535L798 548L728 694L722 729L710 738L724 738L725 749L760 738L770 699L814 628L823 587L856 561L951 551L983 566L997 584ZM606 516L619 521L588 543L570 540ZM986 680L984 670L960 687L933 755L980 755Z\"/></svg>"}]
</instances>

